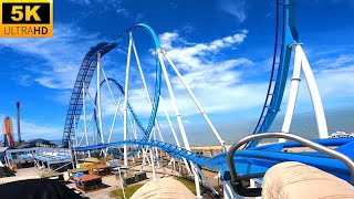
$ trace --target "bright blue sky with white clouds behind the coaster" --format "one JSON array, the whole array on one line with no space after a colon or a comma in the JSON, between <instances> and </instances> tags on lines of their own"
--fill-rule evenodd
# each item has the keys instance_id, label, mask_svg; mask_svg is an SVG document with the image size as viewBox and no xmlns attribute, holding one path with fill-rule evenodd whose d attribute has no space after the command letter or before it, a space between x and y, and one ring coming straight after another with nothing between
<instances>
[{"instance_id":1,"label":"bright blue sky with white clouds behind the coaster","mask_svg":"<svg viewBox=\"0 0 354 199\"><path fill-rule=\"evenodd\" d=\"M354 3L350 0L298 1L298 31L325 111L354 108L353 10ZM0 115L13 117L15 102L21 101L23 137L60 139L71 90L84 54L90 46L114 39L137 22L149 24L159 34L163 48L218 128L256 123L271 70L273 0L56 0L54 38L0 39ZM143 64L152 65L149 38L143 31L134 35ZM103 59L108 76L122 84L126 49L125 40ZM153 74L152 69L145 67L146 73ZM143 87L135 77L133 72L132 104L144 119L146 104L139 98ZM149 75L148 81L152 88L154 76ZM202 123L197 109L176 76L173 75L171 81L186 125L191 132L205 129L199 127ZM306 92L302 84L296 113L312 112ZM283 102L287 102L288 93L284 96ZM173 109L168 109L173 115ZM280 115L284 109L283 105ZM110 121L114 114L112 103L107 103L104 111ZM191 122L198 125L194 127Z\"/></svg>"}]
</instances>

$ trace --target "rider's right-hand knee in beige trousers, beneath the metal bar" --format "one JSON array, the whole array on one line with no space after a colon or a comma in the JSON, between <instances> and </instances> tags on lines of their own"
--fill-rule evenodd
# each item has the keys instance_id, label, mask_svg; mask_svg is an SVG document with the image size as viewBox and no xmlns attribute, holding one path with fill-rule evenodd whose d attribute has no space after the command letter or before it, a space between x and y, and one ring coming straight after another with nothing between
<instances>
[{"instance_id":1,"label":"rider's right-hand knee in beige trousers, beneath the metal bar","mask_svg":"<svg viewBox=\"0 0 354 199\"><path fill-rule=\"evenodd\" d=\"M263 177L263 199L354 198L354 187L315 167L285 161L271 167Z\"/></svg>"}]
</instances>

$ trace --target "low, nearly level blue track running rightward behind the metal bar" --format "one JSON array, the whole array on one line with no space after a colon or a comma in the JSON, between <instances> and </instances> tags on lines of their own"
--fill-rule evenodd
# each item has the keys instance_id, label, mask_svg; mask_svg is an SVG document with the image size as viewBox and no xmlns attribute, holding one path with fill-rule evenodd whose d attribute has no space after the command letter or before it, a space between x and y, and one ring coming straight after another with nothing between
<instances>
[{"instance_id":1,"label":"low, nearly level blue track running rightward behind the metal bar","mask_svg":"<svg viewBox=\"0 0 354 199\"><path fill-rule=\"evenodd\" d=\"M317 139L313 140L323 146L336 146L335 150L340 151L350 158L354 159L354 138L341 139ZM77 147L75 151L96 150L102 148L115 148L122 145L139 145L139 146L154 146L162 148L170 156L183 159L186 158L199 166L207 167L220 171L221 175L229 170L227 165L227 153L220 153L214 157L204 157L194 154L189 150L178 146L149 139L136 139L126 142L116 142L110 144L100 144L95 146ZM333 174L344 180L350 181L351 175L347 167L336 159L330 158L321 153L284 153L284 148L300 147L298 143L289 142L282 144L272 144L260 146L252 149L237 150L235 154L235 164L239 174L259 174L266 172L270 167L282 161L300 161L306 165L314 166L330 174ZM112 151L112 150L108 150ZM113 154L116 156L117 154ZM119 155L119 154L118 154ZM118 156L119 158L122 155Z\"/></svg>"}]
</instances>

